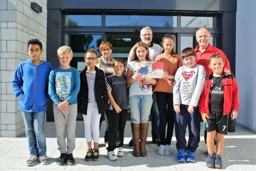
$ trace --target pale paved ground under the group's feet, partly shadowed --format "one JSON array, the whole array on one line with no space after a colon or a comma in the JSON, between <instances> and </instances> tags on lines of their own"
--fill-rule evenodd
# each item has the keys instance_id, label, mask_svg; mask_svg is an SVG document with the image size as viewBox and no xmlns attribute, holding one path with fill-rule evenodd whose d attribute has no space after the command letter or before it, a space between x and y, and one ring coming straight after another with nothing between
<instances>
[{"instance_id":1,"label":"pale paved ground under the group's feet, partly shadowed","mask_svg":"<svg viewBox=\"0 0 256 171\"><path fill-rule=\"evenodd\" d=\"M102 125L104 128L105 125ZM86 153L86 142L84 138L83 121L77 121L76 128L76 149L74 157L76 160L75 166L59 166L56 164L60 153L57 150L57 139L54 123L47 122L46 128L46 143L47 156L50 158L49 165L36 164L35 166L26 166L26 160L29 157L26 136L18 138L0 137L0 170L213 170L205 166L206 161L206 145L204 143L203 131L201 131L200 149L196 151L196 162L179 163L176 161L177 150L175 149L175 135L172 139L172 154L171 156L160 156L157 154L158 146L150 144L151 134L149 128L147 142L147 157L133 157L132 148L127 144L130 141L131 127L130 121L127 121L125 128L125 146L124 157L118 158L117 161L110 161L107 157L107 150L103 145L103 132L100 132L100 160L99 161L84 161ZM228 133L225 136L225 148L222 154L223 170L256 170L256 134L246 129L237 126L235 133Z\"/></svg>"}]
</instances>

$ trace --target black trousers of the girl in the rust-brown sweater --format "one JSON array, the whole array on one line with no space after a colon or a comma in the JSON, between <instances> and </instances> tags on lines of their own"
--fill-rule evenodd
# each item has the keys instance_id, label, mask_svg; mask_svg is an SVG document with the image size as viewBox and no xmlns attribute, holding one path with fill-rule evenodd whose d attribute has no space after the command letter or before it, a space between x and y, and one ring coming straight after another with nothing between
<instances>
[{"instance_id":1,"label":"black trousers of the girl in the rust-brown sweater","mask_svg":"<svg viewBox=\"0 0 256 171\"><path fill-rule=\"evenodd\" d=\"M159 111L159 137L161 145L171 145L174 127L173 94L156 92L156 101ZM167 132L166 130L167 124ZM166 133L166 135L165 135Z\"/></svg>"}]
</instances>

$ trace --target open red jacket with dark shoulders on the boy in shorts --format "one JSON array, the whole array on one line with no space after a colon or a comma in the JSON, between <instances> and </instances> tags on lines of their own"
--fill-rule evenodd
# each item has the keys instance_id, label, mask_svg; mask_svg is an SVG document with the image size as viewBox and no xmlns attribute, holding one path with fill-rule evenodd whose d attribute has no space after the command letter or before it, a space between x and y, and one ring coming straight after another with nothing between
<instances>
[{"instance_id":1,"label":"open red jacket with dark shoulders on the boy in shorts","mask_svg":"<svg viewBox=\"0 0 256 171\"><path fill-rule=\"evenodd\" d=\"M203 93L199 100L199 112L201 115L206 113L209 115L210 90L212 84L213 73L206 77ZM239 108L239 92L236 79L233 75L226 76L224 73L221 77L224 91L223 115L229 115L230 109L238 111Z\"/></svg>"}]
</instances>

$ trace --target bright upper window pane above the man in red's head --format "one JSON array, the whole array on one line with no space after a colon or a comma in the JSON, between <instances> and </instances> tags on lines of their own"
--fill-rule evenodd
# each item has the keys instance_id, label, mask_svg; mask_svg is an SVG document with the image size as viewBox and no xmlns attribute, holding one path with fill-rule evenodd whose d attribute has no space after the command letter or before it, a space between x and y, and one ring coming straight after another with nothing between
<instances>
[{"instance_id":1,"label":"bright upper window pane above the man in red's head","mask_svg":"<svg viewBox=\"0 0 256 171\"><path fill-rule=\"evenodd\" d=\"M215 18L213 17L181 17L181 27L207 27L215 28L216 22L213 22Z\"/></svg>"}]
</instances>

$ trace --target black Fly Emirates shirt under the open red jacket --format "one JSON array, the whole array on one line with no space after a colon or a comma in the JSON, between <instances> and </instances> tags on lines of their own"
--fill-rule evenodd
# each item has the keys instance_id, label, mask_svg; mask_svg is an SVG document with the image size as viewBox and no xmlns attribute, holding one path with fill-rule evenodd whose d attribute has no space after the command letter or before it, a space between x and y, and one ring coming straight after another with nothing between
<instances>
[{"instance_id":1,"label":"black Fly Emirates shirt under the open red jacket","mask_svg":"<svg viewBox=\"0 0 256 171\"><path fill-rule=\"evenodd\" d=\"M223 112L224 89L221 77L213 77L210 91L210 110Z\"/></svg>"}]
</instances>

